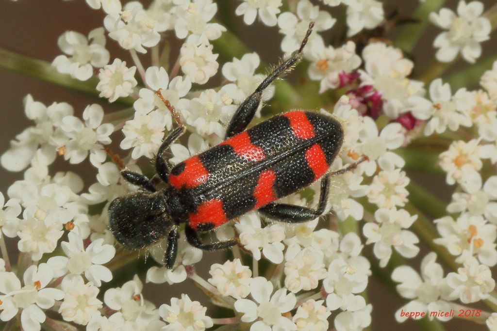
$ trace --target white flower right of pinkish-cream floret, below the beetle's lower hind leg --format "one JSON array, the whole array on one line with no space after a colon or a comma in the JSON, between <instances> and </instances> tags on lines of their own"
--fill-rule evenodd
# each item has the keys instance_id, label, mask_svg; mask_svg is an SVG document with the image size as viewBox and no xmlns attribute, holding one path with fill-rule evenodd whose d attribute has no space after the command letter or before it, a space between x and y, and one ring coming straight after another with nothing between
<instances>
[{"instance_id":1,"label":"white flower right of pinkish-cream floret, below the beetle's lower hind leg","mask_svg":"<svg viewBox=\"0 0 497 331\"><path fill-rule=\"evenodd\" d=\"M366 307L366 301L357 293L368 284L370 264L361 256L337 256L331 261L323 287L329 293L326 305L330 310L357 311Z\"/></svg>"}]
</instances>

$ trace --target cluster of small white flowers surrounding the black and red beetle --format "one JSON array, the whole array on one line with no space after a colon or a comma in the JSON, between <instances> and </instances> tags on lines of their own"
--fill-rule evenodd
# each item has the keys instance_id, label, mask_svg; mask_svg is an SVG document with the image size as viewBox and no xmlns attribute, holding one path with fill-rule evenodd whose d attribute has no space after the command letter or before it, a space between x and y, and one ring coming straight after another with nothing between
<instances>
[{"instance_id":1,"label":"cluster of small white flowers surrounding the black and red beetle","mask_svg":"<svg viewBox=\"0 0 497 331\"><path fill-rule=\"evenodd\" d=\"M238 106L265 78L256 52L222 54L226 50L213 42L227 31L215 18L218 5L213 0L148 2L86 0L91 8L103 10L102 26L87 36L62 34L58 46L63 55L52 62L61 73L86 83L94 80L96 94L129 108L108 113L89 104L80 117L67 103L45 106L29 94L24 100L26 117L34 124L19 133L0 158L5 169L24 171L23 180L14 182L5 196L0 193L1 321L20 321L25 331L45 325L62 328L62 323L88 331L203 331L239 323L250 323L251 331L363 330L371 324L372 305L362 294L371 264L388 268L393 255L414 258L419 252L413 224L423 217L409 202L411 179L400 149L419 137L426 139L423 135L442 136L440 143L447 147L438 165L456 191L446 208L449 214L434 220L439 237L433 244L446 249L458 268L444 276L434 252L422 260L419 273L407 265L395 268L397 290L410 300L396 318L407 320L403 311L448 311L456 300L496 300L490 267L497 265L497 176L489 173L497 164L497 62L481 77L483 89L459 88L453 93L448 80L441 78L425 86L412 78L414 62L400 49L383 39L368 40L381 30L376 28L391 23L385 22L383 4L377 0L243 0L234 13L243 16L245 24L258 19L278 30L287 58L303 47L314 22L298 84L312 80L314 88L319 82L319 91L316 87L306 98L302 94L307 90L296 88L286 98L298 102L322 97L321 113L337 119L344 129L329 171L326 223L319 217L303 223L275 222L251 211L216 230L218 239L237 238L238 245L231 248L232 260L210 266L210 278L196 273L203 252L181 235L172 268L147 266L132 280L117 284L113 272L127 259L114 246L108 209L114 199L137 190L122 179L121 171L153 171L139 159L154 159L175 123L183 122L189 133L186 145L171 144L166 158L172 165L218 144ZM329 33L336 19L327 6L338 5L346 15L348 39L343 31L340 44L332 44ZM435 25L448 30L434 41L439 61L452 62L459 53L468 62L480 57L480 43L489 39L492 29L483 9L479 1L461 0L457 15L447 8L429 15ZM173 35L181 46L170 52L176 59L169 68L162 66L167 56L161 49ZM131 61L111 60L106 37L129 51ZM220 66L217 53L233 60ZM142 63L145 56L151 61ZM255 121L267 119L262 106L274 95L274 86L261 92L255 116L262 119ZM278 101L281 98L278 95ZM445 143L448 139L450 144ZM49 167L58 157L69 164L88 159L95 179L83 184L82 177L70 171L52 175ZM317 205L319 196L318 182L302 196L278 202L310 207ZM355 232L345 229L347 223L357 225ZM10 265L4 236L16 241L19 265ZM374 257L368 260L362 252L370 244ZM147 254L162 264L167 245L161 240L148 247ZM244 265L247 256L251 267ZM211 318L207 308L187 294L156 306L142 294L139 276L145 274L147 283L167 286L189 279L235 317ZM109 288L100 292L104 283ZM58 321L52 320L56 314ZM497 325L495 314L483 315L489 328Z\"/></svg>"}]
</instances>

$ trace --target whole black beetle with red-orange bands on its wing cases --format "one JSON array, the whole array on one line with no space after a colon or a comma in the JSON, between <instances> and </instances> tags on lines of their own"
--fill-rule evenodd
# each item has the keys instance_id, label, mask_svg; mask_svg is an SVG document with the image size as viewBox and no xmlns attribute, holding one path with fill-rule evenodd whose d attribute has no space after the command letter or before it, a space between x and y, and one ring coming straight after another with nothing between
<instances>
[{"instance_id":1,"label":"whole black beetle with red-orange bands on its wing cases","mask_svg":"<svg viewBox=\"0 0 497 331\"><path fill-rule=\"evenodd\" d=\"M246 130L261 101L263 90L278 76L302 60L303 49L314 22L300 48L276 66L236 110L220 144L170 167L165 152L185 132L170 102L164 102L177 124L160 146L155 167L166 183L158 191L146 176L122 171L122 177L143 192L114 199L108 208L109 227L127 249L138 250L167 236L164 264L176 259L180 224L193 247L212 251L237 244L236 239L204 244L198 231L209 231L250 210L284 222L313 220L326 209L330 176L357 166L358 162L328 174L343 141L341 124L331 116L291 111L274 116ZM324 176L324 177L323 177ZM276 203L323 177L317 208Z\"/></svg>"}]
</instances>

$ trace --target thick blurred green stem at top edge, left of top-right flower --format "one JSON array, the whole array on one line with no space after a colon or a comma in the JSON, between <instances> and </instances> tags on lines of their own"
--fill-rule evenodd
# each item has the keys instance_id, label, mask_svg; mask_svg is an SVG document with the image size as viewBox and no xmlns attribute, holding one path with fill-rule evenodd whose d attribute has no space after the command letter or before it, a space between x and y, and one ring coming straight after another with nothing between
<instances>
[{"instance_id":1,"label":"thick blurred green stem at top edge, left of top-right flower","mask_svg":"<svg viewBox=\"0 0 497 331\"><path fill-rule=\"evenodd\" d=\"M411 16L413 19L419 20L419 22L402 26L394 41L395 46L406 53L411 53L429 25L430 12L438 11L444 2L445 0L429 0L420 3Z\"/></svg>"}]
</instances>

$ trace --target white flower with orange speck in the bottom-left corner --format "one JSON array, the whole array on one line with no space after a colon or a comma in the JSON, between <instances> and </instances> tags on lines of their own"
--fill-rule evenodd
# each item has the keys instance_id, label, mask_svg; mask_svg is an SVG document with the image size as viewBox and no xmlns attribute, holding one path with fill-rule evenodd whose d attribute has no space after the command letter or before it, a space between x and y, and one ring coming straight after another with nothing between
<instances>
[{"instance_id":1,"label":"white flower with orange speck in the bottom-left corner","mask_svg":"<svg viewBox=\"0 0 497 331\"><path fill-rule=\"evenodd\" d=\"M31 265L24 271L22 287L13 272L0 272L0 319L9 321L21 309L22 328L40 330L40 323L45 322L43 310L52 308L55 300L64 297L59 289L45 288L52 279L53 271L45 263Z\"/></svg>"}]
</instances>

